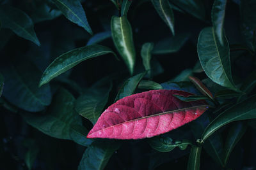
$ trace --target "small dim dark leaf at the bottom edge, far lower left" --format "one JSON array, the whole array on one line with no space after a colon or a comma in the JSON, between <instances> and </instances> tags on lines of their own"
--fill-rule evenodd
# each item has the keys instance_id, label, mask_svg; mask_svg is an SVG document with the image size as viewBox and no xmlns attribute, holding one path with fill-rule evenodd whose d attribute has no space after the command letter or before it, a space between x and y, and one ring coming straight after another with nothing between
<instances>
[{"instance_id":1,"label":"small dim dark leaf at the bottom edge, far lower left","mask_svg":"<svg viewBox=\"0 0 256 170\"><path fill-rule=\"evenodd\" d=\"M39 148L33 139L25 139L22 144L28 148L28 151L25 154L25 163L29 170L32 169L33 164L35 163L36 157L39 152Z\"/></svg>"}]
</instances>

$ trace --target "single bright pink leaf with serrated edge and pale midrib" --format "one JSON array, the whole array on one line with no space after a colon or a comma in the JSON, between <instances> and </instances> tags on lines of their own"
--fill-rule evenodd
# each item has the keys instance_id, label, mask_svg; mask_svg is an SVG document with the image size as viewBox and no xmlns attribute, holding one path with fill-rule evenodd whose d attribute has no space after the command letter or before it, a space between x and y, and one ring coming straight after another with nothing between
<instances>
[{"instance_id":1,"label":"single bright pink leaf with serrated edge and pale midrib","mask_svg":"<svg viewBox=\"0 0 256 170\"><path fill-rule=\"evenodd\" d=\"M102 113L87 138L150 138L195 120L208 108L204 100L184 102L173 94L191 95L180 90L151 90L120 99Z\"/></svg>"}]
</instances>

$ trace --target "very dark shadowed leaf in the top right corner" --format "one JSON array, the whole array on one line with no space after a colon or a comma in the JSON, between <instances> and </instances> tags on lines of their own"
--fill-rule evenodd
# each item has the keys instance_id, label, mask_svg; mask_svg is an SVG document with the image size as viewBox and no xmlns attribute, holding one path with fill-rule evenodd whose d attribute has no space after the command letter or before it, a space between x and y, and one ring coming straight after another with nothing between
<instances>
[{"instance_id":1,"label":"very dark shadowed leaf in the top right corner","mask_svg":"<svg viewBox=\"0 0 256 170\"><path fill-rule=\"evenodd\" d=\"M255 29L256 29L256 1L242 0L240 5L241 12L241 31L247 45L255 51Z\"/></svg>"}]
</instances>

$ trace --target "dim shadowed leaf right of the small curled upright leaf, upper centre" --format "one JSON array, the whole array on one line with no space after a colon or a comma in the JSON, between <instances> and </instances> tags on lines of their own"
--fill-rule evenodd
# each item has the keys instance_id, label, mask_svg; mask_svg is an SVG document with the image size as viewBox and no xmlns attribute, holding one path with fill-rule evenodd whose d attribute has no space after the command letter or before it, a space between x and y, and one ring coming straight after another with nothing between
<instances>
[{"instance_id":1,"label":"dim shadowed leaf right of the small curled upright leaf, upper centre","mask_svg":"<svg viewBox=\"0 0 256 170\"><path fill-rule=\"evenodd\" d=\"M175 53L186 43L189 34L179 34L171 38L161 39L156 43L152 51L153 54Z\"/></svg>"}]
</instances>

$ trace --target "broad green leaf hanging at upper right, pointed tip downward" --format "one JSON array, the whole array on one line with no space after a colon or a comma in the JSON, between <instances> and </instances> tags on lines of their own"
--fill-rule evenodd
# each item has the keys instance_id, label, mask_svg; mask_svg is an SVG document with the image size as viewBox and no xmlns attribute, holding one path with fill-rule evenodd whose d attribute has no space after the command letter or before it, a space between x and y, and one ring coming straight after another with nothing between
<instances>
[{"instance_id":1,"label":"broad green leaf hanging at upper right, pointed tip downward","mask_svg":"<svg viewBox=\"0 0 256 170\"><path fill-rule=\"evenodd\" d=\"M232 80L229 47L226 38L221 46L216 39L214 29L206 27L200 32L197 52L205 74L212 81L223 87L237 90Z\"/></svg>"}]
</instances>

